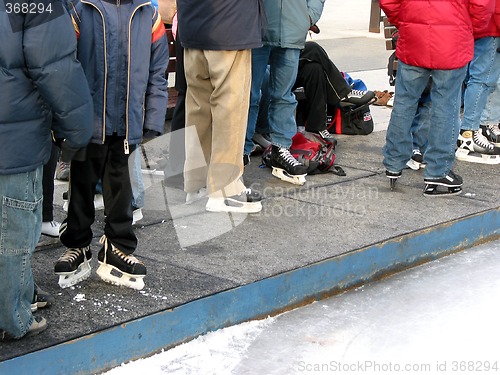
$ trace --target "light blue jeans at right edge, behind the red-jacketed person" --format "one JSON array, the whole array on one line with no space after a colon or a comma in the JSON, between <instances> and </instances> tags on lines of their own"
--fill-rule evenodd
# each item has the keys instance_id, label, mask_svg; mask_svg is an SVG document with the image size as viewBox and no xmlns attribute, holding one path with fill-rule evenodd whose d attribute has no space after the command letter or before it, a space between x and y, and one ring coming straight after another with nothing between
<instances>
[{"instance_id":1,"label":"light blue jeans at right edge, behind the red-jacketed person","mask_svg":"<svg viewBox=\"0 0 500 375\"><path fill-rule=\"evenodd\" d=\"M478 130L488 95L500 75L500 37L486 37L474 42L474 58L469 64L469 79L464 95L463 130Z\"/></svg>"}]
</instances>

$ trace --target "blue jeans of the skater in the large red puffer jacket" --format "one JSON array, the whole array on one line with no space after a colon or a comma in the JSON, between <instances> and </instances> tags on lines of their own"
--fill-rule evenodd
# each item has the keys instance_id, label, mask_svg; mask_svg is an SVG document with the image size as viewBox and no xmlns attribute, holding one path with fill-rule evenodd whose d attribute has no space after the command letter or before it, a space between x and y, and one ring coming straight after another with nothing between
<instances>
[{"instance_id":1,"label":"blue jeans of the skater in the large red puffer jacket","mask_svg":"<svg viewBox=\"0 0 500 375\"><path fill-rule=\"evenodd\" d=\"M441 178L448 174L455 160L460 129L461 85L467 67L453 70L430 70L399 61L396 94L384 146L384 165L390 172L400 172L411 157L411 126L418 101L432 74L430 120L424 162L424 176ZM422 128L421 128L422 129Z\"/></svg>"}]
</instances>

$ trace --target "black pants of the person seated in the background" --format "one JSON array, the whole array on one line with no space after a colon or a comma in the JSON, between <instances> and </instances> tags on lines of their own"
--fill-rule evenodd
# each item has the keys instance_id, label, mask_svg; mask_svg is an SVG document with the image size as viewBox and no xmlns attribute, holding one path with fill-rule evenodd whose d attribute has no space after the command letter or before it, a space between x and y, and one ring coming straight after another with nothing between
<instances>
[{"instance_id":1,"label":"black pants of the person seated in the background","mask_svg":"<svg viewBox=\"0 0 500 375\"><path fill-rule=\"evenodd\" d=\"M300 52L294 87L304 87L306 99L298 102L297 123L310 132L326 129L327 106L337 105L351 92L342 73L316 42L306 42Z\"/></svg>"}]
</instances>

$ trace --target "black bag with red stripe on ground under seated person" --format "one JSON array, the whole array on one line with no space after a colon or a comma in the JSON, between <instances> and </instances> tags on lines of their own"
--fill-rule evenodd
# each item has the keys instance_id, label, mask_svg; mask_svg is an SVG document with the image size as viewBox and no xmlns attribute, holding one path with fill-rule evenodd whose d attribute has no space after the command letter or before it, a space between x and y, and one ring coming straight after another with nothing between
<instances>
[{"instance_id":1,"label":"black bag with red stripe on ground under seated person","mask_svg":"<svg viewBox=\"0 0 500 375\"><path fill-rule=\"evenodd\" d=\"M361 106L328 106L327 128L332 134L367 135L373 132L371 101Z\"/></svg>"}]
</instances>

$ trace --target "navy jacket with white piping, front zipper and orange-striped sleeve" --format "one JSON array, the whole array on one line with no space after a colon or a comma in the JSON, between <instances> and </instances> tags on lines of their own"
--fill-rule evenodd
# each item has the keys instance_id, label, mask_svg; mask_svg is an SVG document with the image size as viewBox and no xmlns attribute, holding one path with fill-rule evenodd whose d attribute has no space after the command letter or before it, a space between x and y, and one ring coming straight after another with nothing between
<instances>
[{"instance_id":1,"label":"navy jacket with white piping, front zipper and orange-striped sleeve","mask_svg":"<svg viewBox=\"0 0 500 375\"><path fill-rule=\"evenodd\" d=\"M116 133L139 144L146 129L163 134L169 55L157 9L148 0L75 0L70 14L94 101L91 142Z\"/></svg>"}]
</instances>

